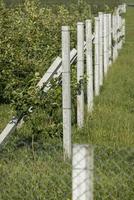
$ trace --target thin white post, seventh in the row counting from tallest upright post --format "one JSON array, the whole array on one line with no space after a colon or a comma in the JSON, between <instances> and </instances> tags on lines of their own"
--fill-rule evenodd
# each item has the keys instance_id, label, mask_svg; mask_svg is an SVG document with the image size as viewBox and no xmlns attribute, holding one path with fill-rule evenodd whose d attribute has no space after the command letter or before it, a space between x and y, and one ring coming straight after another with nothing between
<instances>
[{"instance_id":1,"label":"thin white post, seventh in the row counting from tallest upright post","mask_svg":"<svg viewBox=\"0 0 134 200\"><path fill-rule=\"evenodd\" d=\"M108 14L108 24L109 24L109 65L112 64L112 15Z\"/></svg>"}]
</instances>

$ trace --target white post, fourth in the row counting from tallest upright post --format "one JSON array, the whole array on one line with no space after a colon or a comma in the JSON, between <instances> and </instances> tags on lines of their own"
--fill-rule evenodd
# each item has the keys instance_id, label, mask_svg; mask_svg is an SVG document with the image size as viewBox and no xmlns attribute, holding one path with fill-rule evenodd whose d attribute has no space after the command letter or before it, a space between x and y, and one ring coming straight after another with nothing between
<instances>
[{"instance_id":1,"label":"white post, fourth in the row counting from tallest upright post","mask_svg":"<svg viewBox=\"0 0 134 200\"><path fill-rule=\"evenodd\" d=\"M100 66L99 66L99 17L95 17L95 69L94 69L94 90L95 96L100 93Z\"/></svg>"}]
</instances>

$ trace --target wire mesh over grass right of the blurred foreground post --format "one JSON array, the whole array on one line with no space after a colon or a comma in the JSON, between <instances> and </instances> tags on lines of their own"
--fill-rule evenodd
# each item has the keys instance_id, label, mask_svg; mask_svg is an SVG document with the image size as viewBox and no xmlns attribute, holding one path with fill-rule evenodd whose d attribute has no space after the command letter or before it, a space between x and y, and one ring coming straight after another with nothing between
<instances>
[{"instance_id":1,"label":"wire mesh over grass right of the blurred foreground post","mask_svg":"<svg viewBox=\"0 0 134 200\"><path fill-rule=\"evenodd\" d=\"M134 198L134 149L95 147L94 199Z\"/></svg>"}]
</instances>

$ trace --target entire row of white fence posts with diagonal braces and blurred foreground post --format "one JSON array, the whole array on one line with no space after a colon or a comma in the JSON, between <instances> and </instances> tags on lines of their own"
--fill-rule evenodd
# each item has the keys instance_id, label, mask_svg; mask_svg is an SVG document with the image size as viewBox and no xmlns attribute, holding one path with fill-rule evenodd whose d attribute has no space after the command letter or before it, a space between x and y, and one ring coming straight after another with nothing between
<instances>
[{"instance_id":1,"label":"entire row of white fence posts with diagonal braces and blurred foreground post","mask_svg":"<svg viewBox=\"0 0 134 200\"><path fill-rule=\"evenodd\" d=\"M50 80L62 75L63 105L63 150L65 158L72 158L73 164L73 200L93 200L93 149L87 145L72 145L71 135L71 84L70 67L77 59L77 124L84 125L84 53L86 52L86 75L88 111L93 110L94 96L100 94L100 86L112 62L118 57L119 50L125 41L125 19L121 14L126 12L125 4L115 9L114 13L99 13L95 17L95 28L92 32L92 21L77 23L77 50L70 52L70 28L62 27L62 58L57 57L43 78L37 84L47 92ZM85 29L84 29L84 25ZM95 36L95 37L94 37ZM84 39L86 38L86 42ZM94 60L93 60L94 59ZM15 130L23 117L14 118L0 134L0 145Z\"/></svg>"}]
</instances>

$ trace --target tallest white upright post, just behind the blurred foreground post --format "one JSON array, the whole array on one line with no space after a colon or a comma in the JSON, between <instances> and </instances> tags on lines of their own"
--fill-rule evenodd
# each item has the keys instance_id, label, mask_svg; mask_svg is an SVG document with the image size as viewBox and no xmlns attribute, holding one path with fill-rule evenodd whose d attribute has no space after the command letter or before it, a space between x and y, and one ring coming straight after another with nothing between
<instances>
[{"instance_id":1,"label":"tallest white upright post, just behind the blurred foreground post","mask_svg":"<svg viewBox=\"0 0 134 200\"><path fill-rule=\"evenodd\" d=\"M71 158L70 28L62 26L62 106L64 156Z\"/></svg>"}]
</instances>

